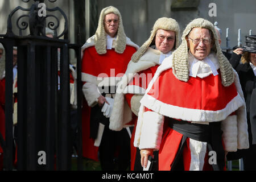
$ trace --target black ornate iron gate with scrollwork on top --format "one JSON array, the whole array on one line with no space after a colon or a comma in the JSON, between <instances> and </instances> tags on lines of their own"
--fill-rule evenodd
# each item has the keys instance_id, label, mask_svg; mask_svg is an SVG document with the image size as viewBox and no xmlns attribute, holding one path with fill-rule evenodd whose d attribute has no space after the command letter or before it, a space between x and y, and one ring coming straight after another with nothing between
<instances>
[{"instance_id":1,"label":"black ornate iron gate with scrollwork on top","mask_svg":"<svg viewBox=\"0 0 256 182\"><path fill-rule=\"evenodd\" d=\"M30 0L22 0L29 2ZM54 3L57 0L48 0ZM18 123L17 123L17 166L18 170L69 170L71 169L71 123L69 91L69 49L76 52L77 65L77 129L79 135L78 169L81 169L81 45L68 40L68 19L59 7L43 10L36 1L29 9L16 7L7 22L7 33L0 35L0 43L6 51L6 95L5 95L5 140L0 134L3 148L4 169L12 170L15 156L13 137L13 47L18 49ZM41 4L42 5L42 4ZM28 14L12 18L16 11ZM60 13L64 30L60 29ZM24 20L27 19L27 20ZM53 22L53 19L56 21ZM14 34L13 24L19 30ZM53 38L46 36L46 27L55 32ZM29 30L29 35L23 35ZM79 34L77 35L79 36ZM64 37L63 39L61 39ZM77 39L79 40L79 39ZM60 68L58 72L58 51ZM58 82L58 74L60 81ZM60 84L60 88L58 88ZM39 158L46 156L46 163Z\"/></svg>"}]
</instances>

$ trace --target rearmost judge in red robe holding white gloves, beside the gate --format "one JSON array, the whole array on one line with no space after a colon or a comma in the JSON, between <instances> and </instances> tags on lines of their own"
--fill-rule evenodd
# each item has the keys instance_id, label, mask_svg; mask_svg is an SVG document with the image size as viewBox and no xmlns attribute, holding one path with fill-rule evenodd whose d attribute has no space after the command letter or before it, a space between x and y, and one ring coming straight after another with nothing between
<instances>
[{"instance_id":1,"label":"rearmost judge in red robe holding white gloves, beside the gate","mask_svg":"<svg viewBox=\"0 0 256 182\"><path fill-rule=\"evenodd\" d=\"M129 166L129 134L126 130L110 131L109 117L115 86L138 48L126 37L121 14L113 6L101 11L96 34L82 47L82 91L86 100L82 107L83 156L94 160L99 156L103 170L114 169L117 154L118 169Z\"/></svg>"}]
</instances>

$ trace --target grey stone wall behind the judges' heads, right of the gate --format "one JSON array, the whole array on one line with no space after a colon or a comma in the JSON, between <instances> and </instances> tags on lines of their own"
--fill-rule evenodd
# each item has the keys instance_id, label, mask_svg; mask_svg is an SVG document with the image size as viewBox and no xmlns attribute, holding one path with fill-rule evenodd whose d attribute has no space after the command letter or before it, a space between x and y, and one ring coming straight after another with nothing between
<instances>
[{"instance_id":1,"label":"grey stone wall behind the judges' heads, right of the gate","mask_svg":"<svg viewBox=\"0 0 256 182\"><path fill-rule=\"evenodd\" d=\"M210 17L208 7L216 3L217 16ZM237 45L238 28L241 28L242 44L249 30L256 34L256 1L255 0L97 0L98 14L106 6L113 5L122 14L126 35L141 46L150 35L155 20L167 16L177 20L181 30L195 18L205 18L218 22L222 29L222 46L225 46L226 28L230 32L230 46Z\"/></svg>"}]
</instances>

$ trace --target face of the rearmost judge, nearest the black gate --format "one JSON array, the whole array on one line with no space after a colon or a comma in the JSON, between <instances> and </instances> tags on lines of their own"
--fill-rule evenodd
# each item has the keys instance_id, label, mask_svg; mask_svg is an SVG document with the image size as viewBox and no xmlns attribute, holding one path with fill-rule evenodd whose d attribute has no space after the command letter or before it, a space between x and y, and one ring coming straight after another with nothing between
<instances>
[{"instance_id":1,"label":"face of the rearmost judge, nearest the black gate","mask_svg":"<svg viewBox=\"0 0 256 182\"><path fill-rule=\"evenodd\" d=\"M105 20L104 20L105 32L109 34L112 38L114 38L114 36L117 35L118 26L119 26L118 15L114 13L105 15Z\"/></svg>"}]
</instances>

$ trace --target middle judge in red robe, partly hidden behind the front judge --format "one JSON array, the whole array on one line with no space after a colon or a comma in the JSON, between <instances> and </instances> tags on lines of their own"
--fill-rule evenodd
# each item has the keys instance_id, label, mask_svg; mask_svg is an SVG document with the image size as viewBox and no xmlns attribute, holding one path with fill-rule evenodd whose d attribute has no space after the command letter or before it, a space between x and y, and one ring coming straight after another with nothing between
<instances>
[{"instance_id":1,"label":"middle judge in red robe, partly hidden behind the front judge","mask_svg":"<svg viewBox=\"0 0 256 182\"><path fill-rule=\"evenodd\" d=\"M110 129L118 131L130 125L134 126L130 142L132 171L143 169L139 150L133 146L141 105L139 101L164 58L170 56L172 51L179 46L179 34L180 28L176 20L166 17L156 20L150 38L134 53L125 75L118 84L118 92L115 94L113 111L110 116ZM157 161L157 155L156 152L155 161Z\"/></svg>"}]
</instances>

